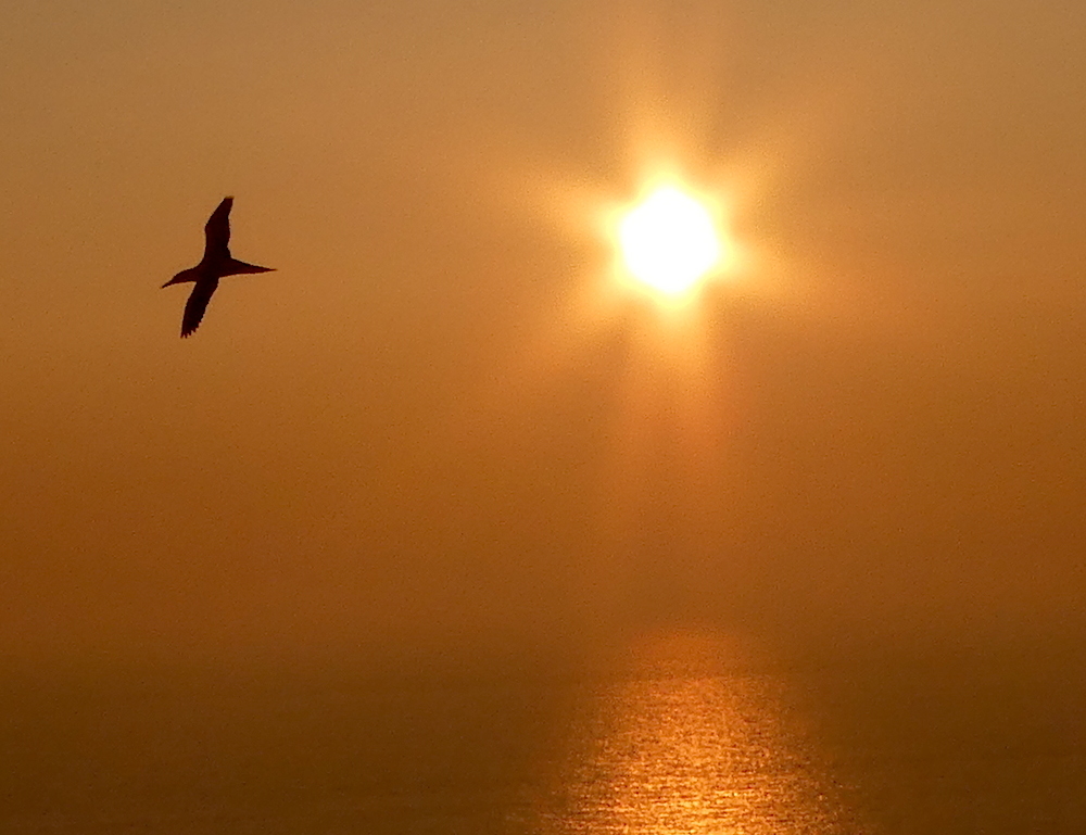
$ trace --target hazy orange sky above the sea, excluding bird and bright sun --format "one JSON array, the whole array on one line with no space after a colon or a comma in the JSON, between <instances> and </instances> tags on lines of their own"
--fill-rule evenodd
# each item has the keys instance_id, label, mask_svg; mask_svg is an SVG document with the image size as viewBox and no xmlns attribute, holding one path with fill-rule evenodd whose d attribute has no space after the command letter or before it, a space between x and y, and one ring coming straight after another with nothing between
<instances>
[{"instance_id":1,"label":"hazy orange sky above the sea, excluding bird and bright sun","mask_svg":"<svg viewBox=\"0 0 1086 835\"><path fill-rule=\"evenodd\" d=\"M4 4L0 653L1081 627L1084 37L1025 0ZM582 211L657 163L750 253L679 322ZM277 271L182 342L159 287L225 194Z\"/></svg>"}]
</instances>

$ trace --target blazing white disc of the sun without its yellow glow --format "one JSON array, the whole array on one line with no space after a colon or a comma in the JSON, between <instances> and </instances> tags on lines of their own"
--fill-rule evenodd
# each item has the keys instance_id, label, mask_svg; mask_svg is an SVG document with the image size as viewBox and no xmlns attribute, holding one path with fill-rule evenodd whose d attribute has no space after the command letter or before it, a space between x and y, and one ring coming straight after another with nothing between
<instances>
[{"instance_id":1,"label":"blazing white disc of the sun without its yellow glow","mask_svg":"<svg viewBox=\"0 0 1086 835\"><path fill-rule=\"evenodd\" d=\"M619 223L618 240L634 278L669 295L689 290L721 258L708 210L673 187L631 208Z\"/></svg>"}]
</instances>

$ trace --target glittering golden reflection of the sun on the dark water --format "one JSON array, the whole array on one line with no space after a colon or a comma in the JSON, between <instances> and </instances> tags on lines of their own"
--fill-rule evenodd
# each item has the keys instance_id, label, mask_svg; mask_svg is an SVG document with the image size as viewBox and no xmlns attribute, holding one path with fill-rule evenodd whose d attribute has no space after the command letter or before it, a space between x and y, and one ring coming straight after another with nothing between
<instances>
[{"instance_id":1,"label":"glittering golden reflection of the sun on the dark water","mask_svg":"<svg viewBox=\"0 0 1086 835\"><path fill-rule=\"evenodd\" d=\"M744 668L720 635L635 642L570 730L548 835L861 835L835 796L782 683Z\"/></svg>"}]
</instances>

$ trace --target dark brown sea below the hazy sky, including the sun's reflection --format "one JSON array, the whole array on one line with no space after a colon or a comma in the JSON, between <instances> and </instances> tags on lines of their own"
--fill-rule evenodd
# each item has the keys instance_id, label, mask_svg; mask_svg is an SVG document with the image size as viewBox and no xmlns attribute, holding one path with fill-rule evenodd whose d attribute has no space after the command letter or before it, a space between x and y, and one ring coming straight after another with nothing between
<instances>
[{"instance_id":1,"label":"dark brown sea below the hazy sky, including the sun's reflection","mask_svg":"<svg viewBox=\"0 0 1086 835\"><path fill-rule=\"evenodd\" d=\"M11 667L0 833L1081 835L1076 658Z\"/></svg>"}]
</instances>

